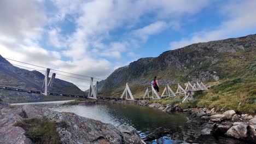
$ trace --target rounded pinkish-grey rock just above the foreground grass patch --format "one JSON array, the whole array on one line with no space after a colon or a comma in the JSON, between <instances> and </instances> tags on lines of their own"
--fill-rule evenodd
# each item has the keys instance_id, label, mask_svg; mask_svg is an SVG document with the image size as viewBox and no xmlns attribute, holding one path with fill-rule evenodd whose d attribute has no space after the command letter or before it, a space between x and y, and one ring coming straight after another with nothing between
<instances>
[{"instance_id":1,"label":"rounded pinkish-grey rock just above the foreground grass patch","mask_svg":"<svg viewBox=\"0 0 256 144\"><path fill-rule=\"evenodd\" d=\"M40 110L37 110L36 107L32 105L24 105L22 107L22 112L25 112L28 118L42 118L43 115Z\"/></svg>"}]
</instances>

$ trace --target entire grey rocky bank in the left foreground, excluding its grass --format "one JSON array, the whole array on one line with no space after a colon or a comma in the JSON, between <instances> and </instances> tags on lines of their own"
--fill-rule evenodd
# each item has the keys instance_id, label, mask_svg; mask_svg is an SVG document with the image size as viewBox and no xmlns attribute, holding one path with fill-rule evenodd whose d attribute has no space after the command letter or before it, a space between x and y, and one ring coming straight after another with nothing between
<instances>
[{"instance_id":1,"label":"entire grey rocky bank in the left foreground, excluding its grass","mask_svg":"<svg viewBox=\"0 0 256 144\"><path fill-rule=\"evenodd\" d=\"M48 119L57 123L61 143L145 143L136 129L115 127L71 112L56 112L33 105L10 106L0 101L0 143L34 143L16 123L27 119ZM23 124L23 123L22 123Z\"/></svg>"}]
</instances>

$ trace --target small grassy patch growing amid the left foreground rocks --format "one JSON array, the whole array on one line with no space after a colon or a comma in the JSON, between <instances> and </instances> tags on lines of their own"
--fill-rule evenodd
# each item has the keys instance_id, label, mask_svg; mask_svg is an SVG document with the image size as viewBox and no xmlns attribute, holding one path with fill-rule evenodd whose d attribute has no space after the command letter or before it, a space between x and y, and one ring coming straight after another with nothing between
<instances>
[{"instance_id":1,"label":"small grassy patch growing amid the left foreground rocks","mask_svg":"<svg viewBox=\"0 0 256 144\"><path fill-rule=\"evenodd\" d=\"M23 128L26 131L25 135L33 143L58 144L61 143L59 134L56 132L58 124L61 127L65 126L65 122L56 123L47 118L24 119L22 122L15 123L14 126Z\"/></svg>"}]
</instances>

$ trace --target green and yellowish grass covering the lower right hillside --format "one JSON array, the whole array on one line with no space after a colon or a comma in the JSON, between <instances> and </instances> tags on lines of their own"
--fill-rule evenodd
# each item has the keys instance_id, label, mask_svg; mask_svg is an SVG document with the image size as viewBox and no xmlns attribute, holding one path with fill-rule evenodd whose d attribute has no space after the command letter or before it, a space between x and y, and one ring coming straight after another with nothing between
<instances>
[{"instance_id":1,"label":"green and yellowish grass covering the lower right hillside","mask_svg":"<svg viewBox=\"0 0 256 144\"><path fill-rule=\"evenodd\" d=\"M186 50L186 55L191 57L195 53L190 49ZM160 82L160 94L164 87L161 80L172 77L171 80L177 80L180 83L191 81L190 76L196 76L201 71L214 71L219 76L219 81L208 80L206 85L212 86L207 91L196 92L194 100L189 103L181 104L182 109L189 107L215 107L216 110L236 110L242 113L256 113L256 47L252 46L246 50L237 50L236 52L216 53L212 49L205 50L203 56L196 61L190 61L186 67L188 71L179 71L177 68L167 67L158 70L158 67L148 71L142 71L141 74L136 73L136 83L129 78L129 86L135 98L142 98L146 86L138 84L139 79L153 77L158 75ZM185 55L185 54L184 54ZM216 59L212 63L211 59ZM162 60L159 62L161 63ZM153 67L152 64L148 67ZM138 71L139 72L139 71ZM128 76L131 77L131 76ZM124 78L125 79L125 78ZM184 85L182 85L184 87ZM124 91L125 84L119 85L114 89L109 88L106 97L120 97ZM177 87L171 86L173 91ZM151 88L149 87L149 90ZM105 92L105 91L104 91ZM151 92L150 92L150 95ZM161 103L164 105L174 105L181 103L184 95L178 97L165 98L160 100L150 100L149 103Z\"/></svg>"}]
</instances>

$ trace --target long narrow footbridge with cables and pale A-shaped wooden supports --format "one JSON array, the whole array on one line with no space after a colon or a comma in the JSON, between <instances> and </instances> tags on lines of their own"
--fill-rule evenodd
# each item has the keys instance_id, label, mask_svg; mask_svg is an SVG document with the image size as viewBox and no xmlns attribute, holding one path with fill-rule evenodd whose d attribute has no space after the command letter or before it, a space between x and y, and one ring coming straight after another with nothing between
<instances>
[{"instance_id":1,"label":"long narrow footbridge with cables and pale A-shaped wooden supports","mask_svg":"<svg viewBox=\"0 0 256 144\"><path fill-rule=\"evenodd\" d=\"M9 58L5 58L5 59L9 59ZM9 60L10 61L15 61L13 59L9 59ZM19 62L19 61L15 61L15 62ZM20 63L24 63L24 62L20 62ZM24 64L33 65L34 67L40 67L38 65L29 64L29 63L24 63ZM13 65L16 65L18 67L25 67L23 65L18 65L18 64L13 64ZM30 68L30 67L25 67L25 68ZM18 88L18 87L10 87L10 86L4 86L4 85L0 85L0 89L5 89L5 90L9 90L9 91L16 91L16 92L36 93L36 94L43 94L43 95L59 95L59 96L64 96L64 97L75 97L75 98L85 98L85 99L90 98L90 99L114 99L114 100L161 99L161 98L167 98L167 97L177 97L177 95L184 94L182 103L185 103L187 101L193 100L194 99L193 98L193 93L195 91L204 91L204 90L207 89L207 87L204 85L203 82L194 82L194 83L193 82L187 82L187 83L184 83L185 88L183 88L178 83L177 84L178 87L177 87L177 91L176 92L174 92L169 85L166 85L165 88L164 88L164 91L162 92L162 94L159 95L159 93L155 91L153 85L151 85L150 89L152 90L151 91L152 94L150 94L149 88L147 87L143 97L141 97L141 98L134 98L133 95L132 95L131 89L129 87L129 83L126 83L124 92L123 92L123 94L121 94L120 98L98 97L98 81L94 81L94 79L99 79L99 78L95 78L95 77L91 77L91 76L85 76L85 75L79 75L79 74L73 74L73 73L68 73L66 71L60 71L60 70L55 70L55 69L52 69L52 70L59 71L61 73L66 73L66 74L72 74L72 75L77 75L77 76L88 77L89 80L88 79L81 79L79 77L73 77L73 76L68 76L68 75L57 74L57 73L52 73L51 77L49 77L51 69L50 68L45 68L45 67L40 67L40 68L44 68L45 70L39 70L39 69L34 69L34 68L30 68L30 69L34 69L34 70L38 70L38 71L43 71L45 73L45 77L44 77L44 81L43 81L43 85L42 85L42 90L43 91L33 90L33 89L25 89L25 88ZM74 79L90 81L88 95L76 95L76 94L64 94L64 93L48 92L48 88L54 86L54 81L55 81L56 75L67 76L67 77L71 77L71 78L74 78ZM102 79L99 79L99 80L102 80ZM94 85L94 82L96 82L95 85ZM87 86L78 86L78 87L87 87ZM125 98L124 98L124 96L125 96Z\"/></svg>"}]
</instances>

